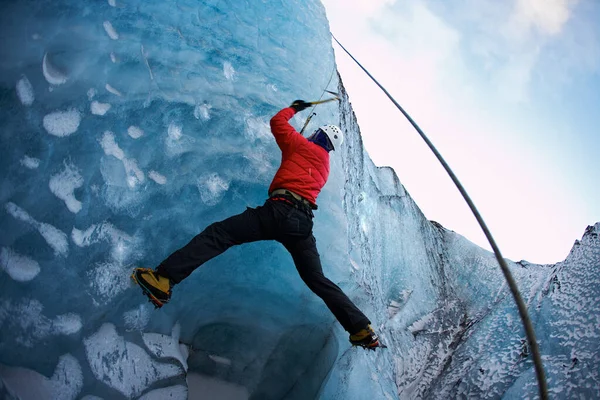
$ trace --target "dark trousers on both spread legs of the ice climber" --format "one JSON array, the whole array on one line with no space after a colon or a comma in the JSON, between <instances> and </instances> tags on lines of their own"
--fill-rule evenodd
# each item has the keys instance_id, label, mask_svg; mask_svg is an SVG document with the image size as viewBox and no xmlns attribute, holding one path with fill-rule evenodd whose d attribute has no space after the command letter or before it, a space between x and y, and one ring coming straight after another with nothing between
<instances>
[{"instance_id":1,"label":"dark trousers on both spread legs of the ice climber","mask_svg":"<svg viewBox=\"0 0 600 400\"><path fill-rule=\"evenodd\" d=\"M290 252L300 277L319 296L344 329L353 334L369 319L342 290L323 275L312 234L312 213L284 200L269 199L257 208L208 226L187 245L171 254L157 268L173 283L187 278L196 268L231 246L258 240L276 240Z\"/></svg>"}]
</instances>

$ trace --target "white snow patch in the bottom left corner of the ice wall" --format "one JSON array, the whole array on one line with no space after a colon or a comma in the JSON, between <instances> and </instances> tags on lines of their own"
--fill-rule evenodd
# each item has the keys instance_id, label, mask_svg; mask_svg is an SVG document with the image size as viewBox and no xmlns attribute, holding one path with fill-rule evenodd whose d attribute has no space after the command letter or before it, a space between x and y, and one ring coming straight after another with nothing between
<instances>
[{"instance_id":1,"label":"white snow patch in the bottom left corner of the ice wall","mask_svg":"<svg viewBox=\"0 0 600 400\"><path fill-rule=\"evenodd\" d=\"M0 378L9 393L21 400L74 400L83 387L81 365L71 354L64 354L51 378L27 368L0 364Z\"/></svg>"}]
</instances>

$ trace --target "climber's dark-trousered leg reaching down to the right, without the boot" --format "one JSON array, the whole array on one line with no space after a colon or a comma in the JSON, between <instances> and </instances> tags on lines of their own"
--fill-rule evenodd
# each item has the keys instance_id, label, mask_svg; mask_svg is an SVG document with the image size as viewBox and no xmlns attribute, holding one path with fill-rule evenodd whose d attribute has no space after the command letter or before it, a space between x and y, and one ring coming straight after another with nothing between
<instances>
[{"instance_id":1,"label":"climber's dark-trousered leg reaching down to the right, without the boot","mask_svg":"<svg viewBox=\"0 0 600 400\"><path fill-rule=\"evenodd\" d=\"M325 302L348 333L354 334L371 323L342 289L323 275L321 259L312 234L306 239L283 245L292 255L304 283Z\"/></svg>"}]
</instances>

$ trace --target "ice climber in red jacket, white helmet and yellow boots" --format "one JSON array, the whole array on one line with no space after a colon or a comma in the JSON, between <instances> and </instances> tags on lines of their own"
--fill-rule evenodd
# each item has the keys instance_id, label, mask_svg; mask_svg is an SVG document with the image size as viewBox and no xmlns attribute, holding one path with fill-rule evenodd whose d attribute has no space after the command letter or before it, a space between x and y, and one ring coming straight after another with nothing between
<instances>
[{"instance_id":1,"label":"ice climber in red jacket, white helmet and yellow boots","mask_svg":"<svg viewBox=\"0 0 600 400\"><path fill-rule=\"evenodd\" d=\"M312 103L296 100L271 119L271 132L282 152L281 166L269 187L264 205L216 222L171 254L160 265L136 268L133 280L156 307L171 298L171 289L196 268L228 248L259 240L276 240L292 255L306 285L327 305L352 345L375 349L379 338L369 319L342 290L323 275L312 233L316 200L329 177L329 152L344 139L334 125L325 125L305 138L288 122Z\"/></svg>"}]
</instances>

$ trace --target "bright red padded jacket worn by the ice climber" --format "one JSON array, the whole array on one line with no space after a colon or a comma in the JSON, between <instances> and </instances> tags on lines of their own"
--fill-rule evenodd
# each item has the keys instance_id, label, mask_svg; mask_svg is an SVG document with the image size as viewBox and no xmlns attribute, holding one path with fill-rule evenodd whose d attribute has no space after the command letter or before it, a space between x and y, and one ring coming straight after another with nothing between
<instances>
[{"instance_id":1,"label":"bright red padded jacket worn by the ice climber","mask_svg":"<svg viewBox=\"0 0 600 400\"><path fill-rule=\"evenodd\" d=\"M284 108L271 118L271 132L281 149L281 166L277 170L269 193L275 189L287 189L312 204L329 177L329 153L309 142L288 122L296 111Z\"/></svg>"}]
</instances>

